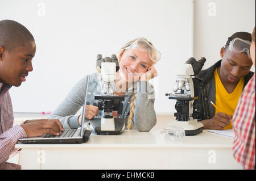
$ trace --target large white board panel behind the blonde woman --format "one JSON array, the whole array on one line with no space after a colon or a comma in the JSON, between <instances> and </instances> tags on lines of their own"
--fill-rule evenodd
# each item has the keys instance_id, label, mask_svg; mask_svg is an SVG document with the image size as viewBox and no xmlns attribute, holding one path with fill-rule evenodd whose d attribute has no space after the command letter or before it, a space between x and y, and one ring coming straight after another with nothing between
<instances>
[{"instance_id":1,"label":"large white board panel behind the blonde woman","mask_svg":"<svg viewBox=\"0 0 256 181\"><path fill-rule=\"evenodd\" d=\"M146 37L163 55L155 66L156 113L173 114L175 101L165 93L174 70L192 55L192 7L192 0L0 0L0 19L24 24L37 46L34 71L10 90L14 112L53 111L80 78L96 71L98 53L110 56Z\"/></svg>"}]
</instances>

